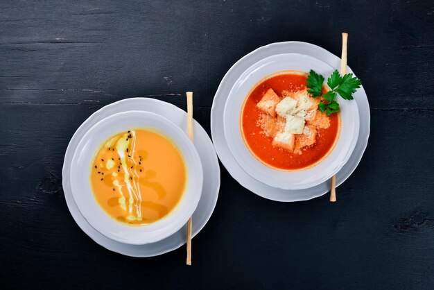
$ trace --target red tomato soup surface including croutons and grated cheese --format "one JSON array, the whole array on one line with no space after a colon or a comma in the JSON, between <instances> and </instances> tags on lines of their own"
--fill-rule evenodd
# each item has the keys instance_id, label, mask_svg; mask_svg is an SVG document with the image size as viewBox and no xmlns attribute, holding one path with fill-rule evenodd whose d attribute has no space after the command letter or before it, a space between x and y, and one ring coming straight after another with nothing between
<instances>
[{"instance_id":1,"label":"red tomato soup surface including croutons and grated cheese","mask_svg":"<svg viewBox=\"0 0 434 290\"><path fill-rule=\"evenodd\" d=\"M324 160L336 144L340 113L326 116L318 110L321 99L312 98L306 92L306 78L301 72L270 76L259 82L244 101L240 120L244 142L250 152L269 167L285 171L309 169ZM299 104L303 97L307 106ZM282 101L284 99L289 102ZM288 112L293 110L285 113L287 119L281 117L284 113L279 115L282 109L278 110L278 103ZM284 103L294 103L294 107ZM297 111L299 105L306 107L301 119L297 117L301 110ZM290 123L294 120L295 123ZM297 120L302 121L303 125L299 124L302 127L297 126ZM300 128L302 131L298 132ZM284 134L286 129L293 134Z\"/></svg>"}]
</instances>

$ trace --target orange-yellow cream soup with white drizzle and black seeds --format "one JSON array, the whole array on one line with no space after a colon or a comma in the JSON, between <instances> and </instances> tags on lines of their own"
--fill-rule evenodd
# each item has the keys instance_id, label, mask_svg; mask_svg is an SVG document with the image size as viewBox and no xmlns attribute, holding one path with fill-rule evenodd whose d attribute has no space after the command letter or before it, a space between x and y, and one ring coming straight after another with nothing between
<instances>
[{"instance_id":1,"label":"orange-yellow cream soup with white drizzle and black seeds","mask_svg":"<svg viewBox=\"0 0 434 290\"><path fill-rule=\"evenodd\" d=\"M92 191L103 210L132 225L153 223L175 209L186 187L184 158L170 139L132 129L104 142L92 162Z\"/></svg>"}]
</instances>

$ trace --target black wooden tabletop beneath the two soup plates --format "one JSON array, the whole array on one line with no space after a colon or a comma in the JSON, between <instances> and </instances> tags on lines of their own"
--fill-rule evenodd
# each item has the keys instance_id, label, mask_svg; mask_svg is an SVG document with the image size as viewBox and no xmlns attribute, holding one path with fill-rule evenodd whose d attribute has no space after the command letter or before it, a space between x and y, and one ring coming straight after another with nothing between
<instances>
[{"instance_id":1,"label":"black wooden tabletop beneath the two soup plates","mask_svg":"<svg viewBox=\"0 0 434 290\"><path fill-rule=\"evenodd\" d=\"M432 1L1 1L1 288L433 289L433 18ZM124 257L78 228L61 168L92 112L132 96L185 109L193 90L209 133L236 60L286 40L340 55L343 31L372 126L337 203L267 201L221 167L191 267L185 248Z\"/></svg>"}]
</instances>

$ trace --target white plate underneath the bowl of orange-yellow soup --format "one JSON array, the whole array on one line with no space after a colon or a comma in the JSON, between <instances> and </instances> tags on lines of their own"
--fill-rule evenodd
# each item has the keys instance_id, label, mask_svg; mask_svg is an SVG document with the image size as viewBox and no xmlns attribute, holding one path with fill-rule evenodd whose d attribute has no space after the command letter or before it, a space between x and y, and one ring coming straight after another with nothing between
<instances>
[{"instance_id":1,"label":"white plate underneath the bowl of orange-yellow soup","mask_svg":"<svg viewBox=\"0 0 434 290\"><path fill-rule=\"evenodd\" d=\"M69 180L70 164L73 153L76 150L78 142L80 142L80 139L83 138L87 130L92 128L95 123L101 121L105 117L130 110L141 110L161 114L167 119L173 121L177 126L180 126L183 130L186 130L186 112L170 103L148 98L134 98L125 99L107 105L92 114L92 116L90 116L76 130L76 133L71 138L64 157L62 187L69 212L71 212L73 219L83 232L91 237L97 244L122 255L132 257L153 257L168 253L184 245L186 241L186 225L184 225L181 230L178 230L175 234L171 235L171 237L163 239L162 241L157 241L156 243L146 245L119 243L118 241L105 237L87 223L83 215L80 214L76 203L73 201L71 183ZM200 156L204 173L202 196L200 197L198 207L193 214L192 234L194 237L205 226L214 211L214 207L216 207L218 189L220 187L220 168L211 139L209 139L209 136L197 121L194 121L193 132L193 144L196 146L196 150Z\"/></svg>"}]
</instances>

